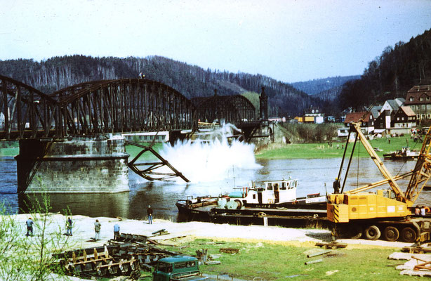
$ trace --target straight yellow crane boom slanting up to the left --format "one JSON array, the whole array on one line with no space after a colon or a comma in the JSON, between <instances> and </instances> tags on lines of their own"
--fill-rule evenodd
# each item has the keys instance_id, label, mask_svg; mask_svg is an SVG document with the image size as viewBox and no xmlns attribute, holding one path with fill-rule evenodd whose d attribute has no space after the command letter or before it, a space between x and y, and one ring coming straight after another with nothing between
<instances>
[{"instance_id":1,"label":"straight yellow crane boom slanting up to the left","mask_svg":"<svg viewBox=\"0 0 431 281\"><path fill-rule=\"evenodd\" d=\"M392 177L390 172L386 169L385 165L383 164L380 157L378 157L376 151L374 151L373 147L370 145L368 141L366 141L366 138L364 136L364 133L361 131L360 121L359 122L352 122L350 125L350 130L354 133L357 133L357 136L359 137L359 140L361 141L362 145L364 145L364 148L366 149L366 152L369 153L371 156L371 159L373 159L373 162L376 164L377 168L379 169L380 173L385 177L385 180L387 183L389 183L390 187L395 193L395 196L399 201L406 202L406 197L404 195L404 192L399 188L398 184L396 183L396 179ZM349 190L346 193L347 194L354 194L360 191L368 190L371 188L374 188L376 185L366 185L366 187L357 188L354 190Z\"/></svg>"}]
</instances>

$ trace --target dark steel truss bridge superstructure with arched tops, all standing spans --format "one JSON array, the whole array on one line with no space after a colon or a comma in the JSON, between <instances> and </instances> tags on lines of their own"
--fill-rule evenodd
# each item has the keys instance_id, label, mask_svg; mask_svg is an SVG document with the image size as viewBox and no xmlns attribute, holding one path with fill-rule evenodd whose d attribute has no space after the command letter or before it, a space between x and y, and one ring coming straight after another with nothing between
<instances>
[{"instance_id":1,"label":"dark steel truss bridge superstructure with arched tops, all standing spans","mask_svg":"<svg viewBox=\"0 0 431 281\"><path fill-rule=\"evenodd\" d=\"M0 75L0 140L65 138L98 133L196 131L198 120L241 127L256 120L243 96L189 100L148 79L91 81L46 94Z\"/></svg>"}]
</instances>

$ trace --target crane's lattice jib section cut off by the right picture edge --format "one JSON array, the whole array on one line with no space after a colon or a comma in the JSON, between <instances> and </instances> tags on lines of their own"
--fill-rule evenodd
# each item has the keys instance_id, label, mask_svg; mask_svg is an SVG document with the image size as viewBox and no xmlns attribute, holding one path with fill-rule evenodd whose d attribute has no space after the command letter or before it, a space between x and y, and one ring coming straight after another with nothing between
<instances>
[{"instance_id":1,"label":"crane's lattice jib section cut off by the right picture edge","mask_svg":"<svg viewBox=\"0 0 431 281\"><path fill-rule=\"evenodd\" d=\"M406 199L410 201L409 206L418 199L420 192L427 184L428 179L431 176L431 133L428 129L425 139L423 140L422 148L420 149L418 162L416 162L415 169L413 169L413 175L410 178L409 185L406 189Z\"/></svg>"}]
</instances>

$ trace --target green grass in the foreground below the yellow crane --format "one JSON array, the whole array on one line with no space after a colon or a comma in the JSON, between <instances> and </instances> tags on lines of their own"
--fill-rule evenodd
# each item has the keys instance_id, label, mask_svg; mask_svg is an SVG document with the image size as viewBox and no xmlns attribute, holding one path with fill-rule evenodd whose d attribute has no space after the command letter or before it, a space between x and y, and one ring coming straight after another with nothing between
<instances>
[{"instance_id":1,"label":"green grass in the foreground below the yellow crane","mask_svg":"<svg viewBox=\"0 0 431 281\"><path fill-rule=\"evenodd\" d=\"M312 243L296 247L260 242L217 244L197 239L177 244L171 250L178 251L181 245L185 247L181 251L190 256L195 256L198 249L208 249L208 254L220 254L220 248L239 249L237 254L221 254L220 265L204 265L201 270L215 275L229 273L246 280L253 277L262 277L259 280L406 280L391 266L404 261L387 259L397 249L336 249L331 256L307 258L310 251L320 251L321 248ZM323 262L304 264L316 259L323 259Z\"/></svg>"}]
</instances>

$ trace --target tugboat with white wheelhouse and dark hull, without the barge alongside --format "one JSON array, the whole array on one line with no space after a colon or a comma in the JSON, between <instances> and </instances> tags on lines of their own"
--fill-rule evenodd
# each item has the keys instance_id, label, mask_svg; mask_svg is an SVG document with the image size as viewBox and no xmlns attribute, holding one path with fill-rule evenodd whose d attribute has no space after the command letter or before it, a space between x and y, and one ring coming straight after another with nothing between
<instances>
[{"instance_id":1,"label":"tugboat with white wheelhouse and dark hull, without the barge alongside","mask_svg":"<svg viewBox=\"0 0 431 281\"><path fill-rule=\"evenodd\" d=\"M326 209L326 196L320 193L296 197L298 180L263 181L249 187L234 188L233 192L218 197L187 197L178 200L178 212L192 219L208 220L211 214L223 209L246 213L251 209Z\"/></svg>"}]
</instances>

